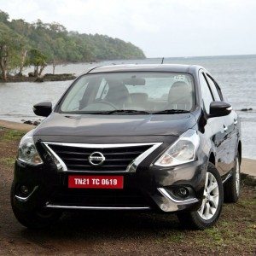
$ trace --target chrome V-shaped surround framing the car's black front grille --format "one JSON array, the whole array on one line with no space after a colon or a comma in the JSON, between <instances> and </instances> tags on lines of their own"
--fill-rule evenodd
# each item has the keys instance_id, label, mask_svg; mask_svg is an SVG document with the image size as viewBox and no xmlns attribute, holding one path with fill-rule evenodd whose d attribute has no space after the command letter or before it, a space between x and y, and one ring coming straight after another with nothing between
<instances>
[{"instance_id":1,"label":"chrome V-shaped surround framing the car's black front grille","mask_svg":"<svg viewBox=\"0 0 256 256\"><path fill-rule=\"evenodd\" d=\"M138 147L138 146L149 146L152 145L151 148L144 151L143 154L137 156L135 160L133 160L129 166L127 166L125 171L109 171L108 173L125 173L125 172L136 172L137 166L149 155L151 154L156 148L160 147L162 143L113 143L113 144L87 144L87 143L49 143L49 142L42 142L44 148L55 157L56 160L59 161L61 168L58 168L59 171L63 172L80 172L80 173L104 173L103 171L72 171L67 170L67 166L58 156L55 154L55 151L49 147L49 145L60 145L60 146L67 146L67 147L78 147L78 148L126 148L126 147Z\"/></svg>"}]
</instances>

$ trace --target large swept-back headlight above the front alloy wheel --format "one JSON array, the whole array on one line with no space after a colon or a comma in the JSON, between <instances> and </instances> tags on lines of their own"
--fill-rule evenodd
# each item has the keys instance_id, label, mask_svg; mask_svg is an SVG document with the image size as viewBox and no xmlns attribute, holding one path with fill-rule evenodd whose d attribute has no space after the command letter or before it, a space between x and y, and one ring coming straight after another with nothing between
<instances>
[{"instance_id":1,"label":"large swept-back headlight above the front alloy wheel","mask_svg":"<svg viewBox=\"0 0 256 256\"><path fill-rule=\"evenodd\" d=\"M155 166L177 166L194 161L196 158L196 150L199 146L200 138L195 130L188 130L176 143L161 155Z\"/></svg>"}]
</instances>

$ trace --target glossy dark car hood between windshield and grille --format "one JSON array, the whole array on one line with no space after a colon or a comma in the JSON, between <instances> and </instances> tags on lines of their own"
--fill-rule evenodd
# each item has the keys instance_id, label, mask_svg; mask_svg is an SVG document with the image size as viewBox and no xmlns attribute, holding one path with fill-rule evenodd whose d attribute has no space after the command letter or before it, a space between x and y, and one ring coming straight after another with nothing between
<instances>
[{"instance_id":1,"label":"glossy dark car hood between windshield and grille","mask_svg":"<svg viewBox=\"0 0 256 256\"><path fill-rule=\"evenodd\" d=\"M191 113L142 115L51 113L34 131L34 136L180 136L194 125L195 117Z\"/></svg>"}]
</instances>

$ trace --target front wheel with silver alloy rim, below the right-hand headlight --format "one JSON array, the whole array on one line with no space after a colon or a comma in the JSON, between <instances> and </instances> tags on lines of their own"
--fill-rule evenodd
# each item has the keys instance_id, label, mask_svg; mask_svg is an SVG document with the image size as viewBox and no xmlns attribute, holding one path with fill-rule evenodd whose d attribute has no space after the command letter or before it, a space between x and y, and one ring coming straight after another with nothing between
<instances>
[{"instance_id":1,"label":"front wheel with silver alloy rim, below the right-hand headlight","mask_svg":"<svg viewBox=\"0 0 256 256\"><path fill-rule=\"evenodd\" d=\"M209 191L209 188L212 186L214 188ZM207 191L209 191L209 193ZM221 177L216 167L212 165L212 163L209 163L207 166L204 199L201 207L197 211L177 212L177 218L185 228L205 230L212 227L218 221L223 201L224 190ZM216 207L214 207L214 205Z\"/></svg>"}]
</instances>

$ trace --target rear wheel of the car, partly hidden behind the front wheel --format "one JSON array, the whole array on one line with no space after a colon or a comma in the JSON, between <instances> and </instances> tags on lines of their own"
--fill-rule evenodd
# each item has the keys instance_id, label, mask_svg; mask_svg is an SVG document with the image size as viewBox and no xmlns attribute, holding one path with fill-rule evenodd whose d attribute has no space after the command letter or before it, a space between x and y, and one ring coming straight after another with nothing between
<instances>
[{"instance_id":1,"label":"rear wheel of the car, partly hidden behind the front wheel","mask_svg":"<svg viewBox=\"0 0 256 256\"><path fill-rule=\"evenodd\" d=\"M232 176L224 183L224 202L235 203L240 195L240 159L236 157L236 166Z\"/></svg>"}]
</instances>

